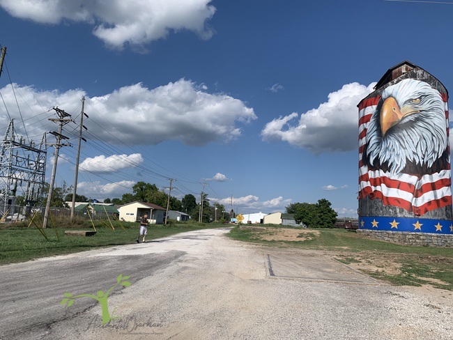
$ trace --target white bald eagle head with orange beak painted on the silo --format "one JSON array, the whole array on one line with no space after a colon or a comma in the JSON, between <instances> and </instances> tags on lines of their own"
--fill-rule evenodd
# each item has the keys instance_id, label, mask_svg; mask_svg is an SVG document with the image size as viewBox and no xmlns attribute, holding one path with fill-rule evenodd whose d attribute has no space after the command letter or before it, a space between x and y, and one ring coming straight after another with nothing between
<instances>
[{"instance_id":1,"label":"white bald eagle head with orange beak painted on the silo","mask_svg":"<svg viewBox=\"0 0 453 340\"><path fill-rule=\"evenodd\" d=\"M385 88L367 130L367 163L392 175L422 175L432 172L446 150L447 120L440 93L415 79Z\"/></svg>"}]
</instances>

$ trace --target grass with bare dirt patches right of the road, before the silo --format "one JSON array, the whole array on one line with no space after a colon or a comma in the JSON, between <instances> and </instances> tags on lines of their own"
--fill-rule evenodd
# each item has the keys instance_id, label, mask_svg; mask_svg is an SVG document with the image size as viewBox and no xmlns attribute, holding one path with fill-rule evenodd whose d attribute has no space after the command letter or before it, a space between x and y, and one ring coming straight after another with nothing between
<instances>
[{"instance_id":1,"label":"grass with bare dirt patches right of the road, before the silo","mask_svg":"<svg viewBox=\"0 0 453 340\"><path fill-rule=\"evenodd\" d=\"M255 231L233 228L229 237L269 246L295 247L330 251L346 265L363 263L374 266L364 270L367 275L396 285L420 286L430 284L453 291L453 252L451 248L413 247L370 240L345 229L316 229L300 233L297 241L268 241ZM304 238L305 236L309 236ZM299 238L299 236L298 236ZM388 266L394 267L390 273ZM364 266L366 268L366 266ZM377 268L377 270L376 270Z\"/></svg>"}]
</instances>

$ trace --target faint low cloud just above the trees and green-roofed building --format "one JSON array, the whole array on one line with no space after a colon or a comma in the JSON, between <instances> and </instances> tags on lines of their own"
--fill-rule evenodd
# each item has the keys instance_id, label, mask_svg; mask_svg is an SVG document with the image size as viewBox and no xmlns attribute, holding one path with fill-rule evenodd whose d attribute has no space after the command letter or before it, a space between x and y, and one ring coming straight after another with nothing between
<instances>
[{"instance_id":1,"label":"faint low cloud just above the trees and green-roofed building","mask_svg":"<svg viewBox=\"0 0 453 340\"><path fill-rule=\"evenodd\" d=\"M133 180L121 180L121 182L100 184L100 182L79 182L77 183L77 194L87 197L121 197L125 192L132 192L135 185Z\"/></svg>"}]
</instances>

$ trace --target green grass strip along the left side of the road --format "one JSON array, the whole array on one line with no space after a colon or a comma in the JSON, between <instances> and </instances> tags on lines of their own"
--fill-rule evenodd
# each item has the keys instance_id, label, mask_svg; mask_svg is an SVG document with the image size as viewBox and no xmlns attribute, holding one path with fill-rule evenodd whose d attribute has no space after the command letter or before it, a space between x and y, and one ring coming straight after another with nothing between
<instances>
[{"instance_id":1,"label":"green grass strip along the left side of the road","mask_svg":"<svg viewBox=\"0 0 453 340\"><path fill-rule=\"evenodd\" d=\"M70 228L56 227L44 230L47 240L42 233L28 224L8 229L0 229L0 265L6 263L17 263L33 260L44 256L54 256L62 254L71 254L85 250L97 249L101 247L112 247L115 245L127 245L135 243L139 234L138 223L112 222L114 230L105 226L102 222L95 222L96 234L90 237L83 236L65 236L66 230L74 230L75 226ZM164 238L176 233L185 231L194 231L199 229L210 229L221 227L222 224L190 224L174 223L168 226L155 224L148 226L146 240L151 241L156 238ZM77 224L77 230L93 230L91 222Z\"/></svg>"}]
</instances>

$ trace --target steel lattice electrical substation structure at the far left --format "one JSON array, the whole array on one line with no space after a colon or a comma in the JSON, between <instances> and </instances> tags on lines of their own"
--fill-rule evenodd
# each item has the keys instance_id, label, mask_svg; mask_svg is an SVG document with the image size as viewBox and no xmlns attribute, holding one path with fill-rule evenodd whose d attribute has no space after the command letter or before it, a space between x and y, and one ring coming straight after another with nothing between
<instances>
[{"instance_id":1,"label":"steel lattice electrical substation structure at the far left","mask_svg":"<svg viewBox=\"0 0 453 340\"><path fill-rule=\"evenodd\" d=\"M0 150L0 217L15 213L17 187L24 194L25 215L33 206L42 206L46 157L45 134L39 145L26 142L24 137L16 136L11 119Z\"/></svg>"}]
</instances>

